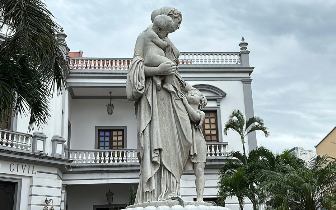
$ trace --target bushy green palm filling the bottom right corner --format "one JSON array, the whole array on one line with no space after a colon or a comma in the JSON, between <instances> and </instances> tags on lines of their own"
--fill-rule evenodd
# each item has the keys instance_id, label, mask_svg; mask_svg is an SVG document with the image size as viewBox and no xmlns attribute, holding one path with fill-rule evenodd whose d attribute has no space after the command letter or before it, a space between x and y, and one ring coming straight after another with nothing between
<instances>
[{"instance_id":1,"label":"bushy green palm filling the bottom right corner","mask_svg":"<svg viewBox=\"0 0 336 210\"><path fill-rule=\"evenodd\" d=\"M265 170L260 183L261 202L268 209L336 209L336 161L317 155L304 167L277 164L278 171Z\"/></svg>"}]
</instances>

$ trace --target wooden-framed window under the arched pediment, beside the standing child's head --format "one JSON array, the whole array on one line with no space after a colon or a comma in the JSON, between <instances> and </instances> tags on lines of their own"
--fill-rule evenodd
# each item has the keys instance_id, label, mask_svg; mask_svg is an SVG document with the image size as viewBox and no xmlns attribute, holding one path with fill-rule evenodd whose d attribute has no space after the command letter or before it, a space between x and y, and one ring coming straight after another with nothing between
<instances>
[{"instance_id":1,"label":"wooden-framed window under the arched pediment, beside the standing child's head","mask_svg":"<svg viewBox=\"0 0 336 210\"><path fill-rule=\"evenodd\" d=\"M218 123L216 110L202 110L205 113L203 135L206 142L218 142Z\"/></svg>"}]
</instances>

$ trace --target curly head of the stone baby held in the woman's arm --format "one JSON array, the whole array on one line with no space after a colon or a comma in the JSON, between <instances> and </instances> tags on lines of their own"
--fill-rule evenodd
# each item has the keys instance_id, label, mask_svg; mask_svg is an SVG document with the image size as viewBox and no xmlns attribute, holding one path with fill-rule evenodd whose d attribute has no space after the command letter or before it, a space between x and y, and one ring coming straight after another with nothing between
<instances>
[{"instance_id":1,"label":"curly head of the stone baby held in the woman's arm","mask_svg":"<svg viewBox=\"0 0 336 210\"><path fill-rule=\"evenodd\" d=\"M153 30L160 39L163 39L167 34L175 31L174 21L168 15L160 14L154 18Z\"/></svg>"}]
</instances>

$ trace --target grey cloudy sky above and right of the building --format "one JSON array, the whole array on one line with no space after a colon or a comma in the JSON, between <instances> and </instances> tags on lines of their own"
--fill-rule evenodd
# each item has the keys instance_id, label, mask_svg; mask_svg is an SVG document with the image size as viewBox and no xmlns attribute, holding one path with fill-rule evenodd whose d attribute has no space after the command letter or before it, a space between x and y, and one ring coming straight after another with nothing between
<instances>
[{"instance_id":1,"label":"grey cloudy sky above and right of the building","mask_svg":"<svg viewBox=\"0 0 336 210\"><path fill-rule=\"evenodd\" d=\"M239 51L249 43L255 115L271 135L259 145L315 151L336 125L336 1L47 0L71 51L132 57L154 9L183 14L170 39L180 51Z\"/></svg>"}]
</instances>

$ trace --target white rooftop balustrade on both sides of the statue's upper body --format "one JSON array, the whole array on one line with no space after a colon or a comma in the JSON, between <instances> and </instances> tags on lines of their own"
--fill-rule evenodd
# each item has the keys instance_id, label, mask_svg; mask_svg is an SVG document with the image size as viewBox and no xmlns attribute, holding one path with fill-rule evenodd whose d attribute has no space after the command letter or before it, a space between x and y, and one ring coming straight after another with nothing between
<instances>
[{"instance_id":1,"label":"white rooftop balustrade on both sides of the statue's upper body","mask_svg":"<svg viewBox=\"0 0 336 210\"><path fill-rule=\"evenodd\" d=\"M129 70L132 58L73 57L69 68L76 70ZM188 64L240 64L239 52L182 52L180 65Z\"/></svg>"}]
</instances>

